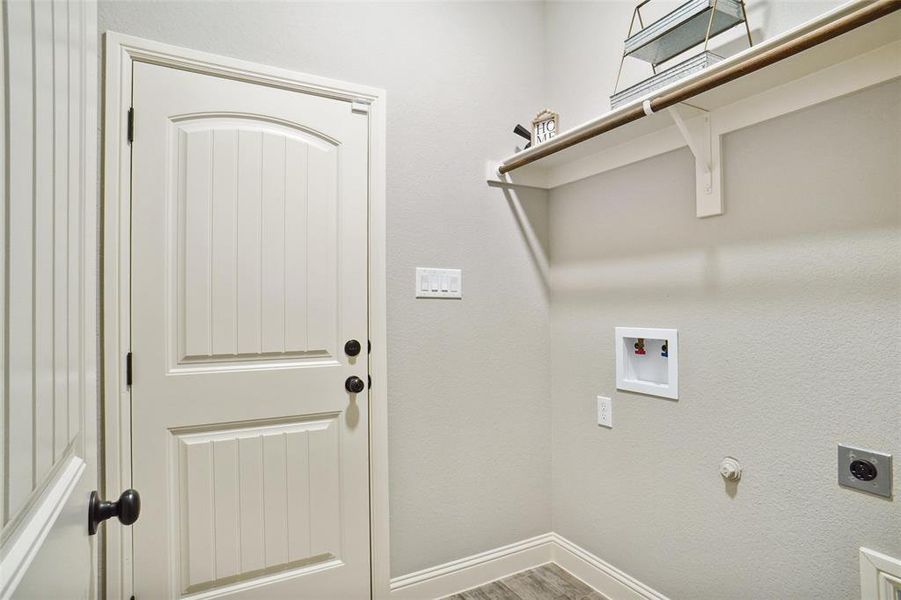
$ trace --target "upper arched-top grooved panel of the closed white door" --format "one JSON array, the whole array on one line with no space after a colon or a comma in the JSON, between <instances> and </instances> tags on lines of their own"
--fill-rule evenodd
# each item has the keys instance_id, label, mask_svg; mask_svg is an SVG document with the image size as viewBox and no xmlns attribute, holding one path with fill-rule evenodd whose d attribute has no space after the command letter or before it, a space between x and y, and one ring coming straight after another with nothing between
<instances>
[{"instance_id":1,"label":"upper arched-top grooved panel of the closed white door","mask_svg":"<svg viewBox=\"0 0 901 600\"><path fill-rule=\"evenodd\" d=\"M338 147L258 119L173 127L173 368L334 355Z\"/></svg>"}]
</instances>

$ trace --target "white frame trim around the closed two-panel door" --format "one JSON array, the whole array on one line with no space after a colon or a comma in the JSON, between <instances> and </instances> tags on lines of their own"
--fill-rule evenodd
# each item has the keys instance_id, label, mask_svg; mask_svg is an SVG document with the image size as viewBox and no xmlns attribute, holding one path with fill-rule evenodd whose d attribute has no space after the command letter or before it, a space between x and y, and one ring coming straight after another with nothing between
<instances>
[{"instance_id":1,"label":"white frame trim around the closed two-panel door","mask_svg":"<svg viewBox=\"0 0 901 600\"><path fill-rule=\"evenodd\" d=\"M106 33L103 113L103 452L104 493L131 483L131 393L125 355L131 347L131 148L126 139L132 68L147 62L314 94L369 113L369 479L372 597L390 593L388 565L388 369L385 278L385 91L286 69ZM136 131L136 137L140 131ZM140 491L140 490L139 490ZM110 598L132 593L131 528L106 532L106 585Z\"/></svg>"}]
</instances>

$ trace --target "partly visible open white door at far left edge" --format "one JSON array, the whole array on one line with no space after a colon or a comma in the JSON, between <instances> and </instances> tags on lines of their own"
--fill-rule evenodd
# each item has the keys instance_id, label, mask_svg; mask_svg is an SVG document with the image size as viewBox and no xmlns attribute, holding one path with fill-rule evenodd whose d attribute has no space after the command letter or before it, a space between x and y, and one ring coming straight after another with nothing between
<instances>
[{"instance_id":1,"label":"partly visible open white door at far left edge","mask_svg":"<svg viewBox=\"0 0 901 600\"><path fill-rule=\"evenodd\" d=\"M97 7L0 6L0 599L95 598Z\"/></svg>"}]
</instances>

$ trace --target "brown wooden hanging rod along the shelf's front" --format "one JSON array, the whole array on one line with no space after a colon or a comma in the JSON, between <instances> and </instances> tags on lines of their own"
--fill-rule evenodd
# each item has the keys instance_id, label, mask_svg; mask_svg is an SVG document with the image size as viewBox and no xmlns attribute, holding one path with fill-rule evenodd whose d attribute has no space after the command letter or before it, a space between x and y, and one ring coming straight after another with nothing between
<instances>
[{"instance_id":1,"label":"brown wooden hanging rod along the shelf's front","mask_svg":"<svg viewBox=\"0 0 901 600\"><path fill-rule=\"evenodd\" d=\"M835 37L847 33L853 29L857 29L867 23L875 21L881 17L889 15L901 9L901 0L875 0L873 2L861 3L860 8L855 9L834 21L830 21L824 25L817 27L796 38L786 40L781 44L777 44L767 48L760 54L748 56L745 60L736 62L735 64L724 64L723 68L712 67L711 72L706 76L693 79L684 85L677 85L673 89L663 90L662 93L650 101L632 106L622 111L610 113L607 117L602 117L597 121L591 122L581 131L572 134L561 134L548 142L534 147L531 150L524 151L521 156L515 156L501 163L497 170L500 174L509 173L520 167L524 167L537 160L541 160L552 154L556 154L561 150L565 150L576 144L597 137L603 133L622 127L633 121L637 121L648 114L652 114L664 110L674 104L685 102L699 94L712 90L725 83L743 77L764 67L768 67L781 60L785 60L795 54L803 52L823 42L827 42Z\"/></svg>"}]
</instances>

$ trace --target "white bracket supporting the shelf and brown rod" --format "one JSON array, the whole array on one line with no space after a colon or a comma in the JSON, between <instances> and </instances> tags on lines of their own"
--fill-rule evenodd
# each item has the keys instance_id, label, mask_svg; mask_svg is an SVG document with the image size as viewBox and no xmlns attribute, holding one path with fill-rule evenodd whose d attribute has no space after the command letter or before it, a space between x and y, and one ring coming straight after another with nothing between
<instances>
[{"instance_id":1,"label":"white bracket supporting the shelf and brown rod","mask_svg":"<svg viewBox=\"0 0 901 600\"><path fill-rule=\"evenodd\" d=\"M722 136L715 131L713 116L708 111L692 108L703 114L688 121L678 106L666 110L695 157L697 216L713 217L723 214Z\"/></svg>"}]
</instances>

